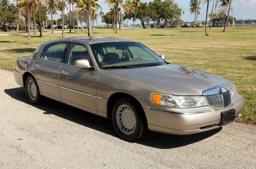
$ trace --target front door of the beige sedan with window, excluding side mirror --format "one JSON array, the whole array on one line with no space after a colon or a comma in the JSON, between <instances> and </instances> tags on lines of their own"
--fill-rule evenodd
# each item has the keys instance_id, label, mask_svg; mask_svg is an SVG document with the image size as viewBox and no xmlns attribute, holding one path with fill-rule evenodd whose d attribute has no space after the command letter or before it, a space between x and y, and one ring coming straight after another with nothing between
<instances>
[{"instance_id":1,"label":"front door of the beige sedan with window, excluding side mirror","mask_svg":"<svg viewBox=\"0 0 256 169\"><path fill-rule=\"evenodd\" d=\"M96 80L97 72L89 69L76 68L78 59L87 59L93 67L86 46L72 43L66 61L59 71L60 98L96 114Z\"/></svg>"}]
</instances>

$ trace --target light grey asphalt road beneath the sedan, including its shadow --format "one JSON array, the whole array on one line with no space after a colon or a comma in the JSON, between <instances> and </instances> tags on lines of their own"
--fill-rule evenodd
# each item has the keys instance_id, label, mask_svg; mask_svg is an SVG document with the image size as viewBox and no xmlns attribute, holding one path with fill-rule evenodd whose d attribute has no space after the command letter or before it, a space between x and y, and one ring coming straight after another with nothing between
<instances>
[{"instance_id":1,"label":"light grey asphalt road beneath the sedan, including its shadow","mask_svg":"<svg viewBox=\"0 0 256 169\"><path fill-rule=\"evenodd\" d=\"M111 121L44 98L28 103L0 70L0 168L255 168L256 126L232 123L175 136L121 140Z\"/></svg>"}]
</instances>

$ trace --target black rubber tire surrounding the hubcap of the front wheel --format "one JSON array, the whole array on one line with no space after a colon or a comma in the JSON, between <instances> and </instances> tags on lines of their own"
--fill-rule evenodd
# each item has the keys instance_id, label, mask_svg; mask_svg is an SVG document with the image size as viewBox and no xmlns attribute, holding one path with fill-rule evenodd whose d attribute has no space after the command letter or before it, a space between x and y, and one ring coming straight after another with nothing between
<instances>
[{"instance_id":1,"label":"black rubber tire surrounding the hubcap of the front wheel","mask_svg":"<svg viewBox=\"0 0 256 169\"><path fill-rule=\"evenodd\" d=\"M135 114L136 117L136 127L133 130L131 134L124 134L118 127L117 121L116 121L116 114L117 114L117 109L122 106L122 105L127 105L129 106L132 111ZM117 132L117 134L124 140L127 140L129 142L136 142L141 135L143 134L144 130L146 129L146 125L144 123L143 119L143 109L141 106L134 100L130 98L121 98L118 99L117 102L114 105L113 111L112 111L112 123L113 126Z\"/></svg>"}]
</instances>

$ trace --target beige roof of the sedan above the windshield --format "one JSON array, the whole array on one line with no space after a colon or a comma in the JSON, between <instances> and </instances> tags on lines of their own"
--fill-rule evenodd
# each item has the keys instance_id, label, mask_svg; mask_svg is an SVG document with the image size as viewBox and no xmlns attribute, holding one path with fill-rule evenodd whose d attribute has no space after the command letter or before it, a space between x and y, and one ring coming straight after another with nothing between
<instances>
[{"instance_id":1,"label":"beige roof of the sedan above the windshield","mask_svg":"<svg viewBox=\"0 0 256 169\"><path fill-rule=\"evenodd\" d=\"M74 37L74 40L86 41L89 44L105 43L105 42L135 42L129 39L112 38L112 37Z\"/></svg>"}]
</instances>

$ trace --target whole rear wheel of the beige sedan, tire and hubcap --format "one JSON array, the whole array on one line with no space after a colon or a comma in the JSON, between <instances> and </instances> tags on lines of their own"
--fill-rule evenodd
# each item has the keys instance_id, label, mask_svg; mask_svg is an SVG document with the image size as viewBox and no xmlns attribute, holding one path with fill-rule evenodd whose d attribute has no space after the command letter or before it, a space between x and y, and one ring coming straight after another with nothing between
<instances>
[{"instance_id":1,"label":"whole rear wheel of the beige sedan, tire and hubcap","mask_svg":"<svg viewBox=\"0 0 256 169\"><path fill-rule=\"evenodd\" d=\"M27 98L31 103L35 104L39 102L40 93L33 76L28 76L26 79L25 90Z\"/></svg>"}]
</instances>

